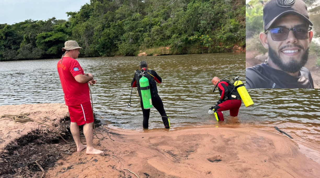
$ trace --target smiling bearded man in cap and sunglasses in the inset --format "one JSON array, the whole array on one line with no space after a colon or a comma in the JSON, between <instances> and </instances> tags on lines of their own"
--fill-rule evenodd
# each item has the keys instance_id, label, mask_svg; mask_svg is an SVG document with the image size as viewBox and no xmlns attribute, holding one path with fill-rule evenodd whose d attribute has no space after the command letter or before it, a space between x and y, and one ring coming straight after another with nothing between
<instances>
[{"instance_id":1,"label":"smiling bearded man in cap and sunglasses in the inset","mask_svg":"<svg viewBox=\"0 0 320 178\"><path fill-rule=\"evenodd\" d=\"M263 8L265 63L246 69L246 88L314 88L308 61L313 33L302 0L270 0Z\"/></svg>"}]
</instances>

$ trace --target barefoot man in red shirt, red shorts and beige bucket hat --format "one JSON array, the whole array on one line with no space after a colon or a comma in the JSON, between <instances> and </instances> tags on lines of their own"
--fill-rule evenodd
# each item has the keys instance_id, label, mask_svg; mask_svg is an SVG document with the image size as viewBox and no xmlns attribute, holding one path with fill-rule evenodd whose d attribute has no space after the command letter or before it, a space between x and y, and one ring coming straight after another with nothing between
<instances>
[{"instance_id":1,"label":"barefoot man in red shirt, red shorts and beige bucket hat","mask_svg":"<svg viewBox=\"0 0 320 178\"><path fill-rule=\"evenodd\" d=\"M93 139L93 113L90 102L89 86L96 83L90 73L84 74L83 69L76 59L82 49L76 41L66 41L65 51L57 64L64 99L70 114L70 131L77 145L77 151L85 148L86 154L101 154L103 151L92 146ZM87 84L88 83L88 84ZM83 133L87 144L80 141L79 125L83 126Z\"/></svg>"}]
</instances>

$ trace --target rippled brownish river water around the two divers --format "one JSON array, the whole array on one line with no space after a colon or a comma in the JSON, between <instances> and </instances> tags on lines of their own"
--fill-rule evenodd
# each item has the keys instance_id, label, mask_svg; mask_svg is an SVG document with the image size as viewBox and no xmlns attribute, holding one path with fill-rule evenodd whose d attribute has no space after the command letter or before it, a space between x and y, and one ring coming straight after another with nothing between
<instances>
[{"instance_id":1,"label":"rippled brownish river water around the two divers","mask_svg":"<svg viewBox=\"0 0 320 178\"><path fill-rule=\"evenodd\" d=\"M0 105L63 103L56 69L58 59L0 62ZM130 83L140 61L147 61L163 83L159 95L172 128L216 124L208 109L218 100L211 79L238 75L245 83L245 53L215 53L147 57L97 57L78 59L97 84L91 87L94 110L110 126L142 130L140 99ZM230 77L229 79L232 79ZM250 89L254 105L242 104L235 119L224 112L226 122L217 126L249 124L295 129L295 136L320 145L320 91L315 89ZM27 111L25 111L27 112ZM149 129L163 128L161 117L151 109Z\"/></svg>"}]
</instances>

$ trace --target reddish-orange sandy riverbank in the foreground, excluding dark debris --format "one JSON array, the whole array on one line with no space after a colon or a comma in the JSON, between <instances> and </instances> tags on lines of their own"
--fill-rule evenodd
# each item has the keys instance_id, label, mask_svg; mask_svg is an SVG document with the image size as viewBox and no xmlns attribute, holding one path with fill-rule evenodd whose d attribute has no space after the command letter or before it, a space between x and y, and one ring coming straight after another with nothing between
<instances>
[{"instance_id":1,"label":"reddish-orange sandy riverbank in the foreground, excluding dark debris","mask_svg":"<svg viewBox=\"0 0 320 178\"><path fill-rule=\"evenodd\" d=\"M66 128L63 127L66 125L61 123L67 122L63 119L67 109L60 106L61 104L0 106L0 115L30 112L30 117L34 119L42 121L46 119L48 123L50 120L53 124L56 122L57 128L61 127L59 130L64 132ZM53 134L52 131L37 123L29 122L24 125L15 125L12 121L1 121L1 123L0 138L4 141L1 142L0 149L12 158L23 156L21 150L17 150L29 144L17 142L21 137L28 136L30 133L40 133L42 129L47 132L41 132L44 134L42 137L51 138L50 135ZM145 132L109 130L109 135L114 141L108 137L107 129L106 126L98 129L105 136L104 140L94 139L94 145L105 150L104 155L86 155L85 151L72 152L75 148L68 148L69 145L65 145L64 142L54 141L51 144L52 149L56 149L56 154L59 153L59 155L50 152L42 155L49 158L48 154L52 154L52 157L59 158L52 159L50 165L45 164L45 160L38 161L45 170L44 177L136 177L124 168L130 169L140 178L313 178L320 174L320 164L300 152L300 144L284 135L256 128L222 128L212 125L174 131L172 129ZM53 137L51 139L54 140ZM44 138L40 140L42 143L49 144L49 141L47 142ZM34 141L30 139L28 142ZM33 146L39 147L41 142L36 142ZM20 146L10 147L10 145ZM61 148L71 151L59 152ZM29 162L34 161L32 147L29 147L28 152L31 158ZM34 155L37 154L34 153ZM9 163L3 162L5 159L3 153L0 156L1 177L1 174L4 175L3 166ZM40 159L36 157L35 159ZM21 161L20 164L27 163ZM19 169L27 172L28 169L21 165L20 167ZM20 171L19 169L16 170ZM7 176L8 173L14 175L14 171L7 171ZM28 174L20 171L16 175L41 177L42 174L39 166L34 165Z\"/></svg>"}]
</instances>

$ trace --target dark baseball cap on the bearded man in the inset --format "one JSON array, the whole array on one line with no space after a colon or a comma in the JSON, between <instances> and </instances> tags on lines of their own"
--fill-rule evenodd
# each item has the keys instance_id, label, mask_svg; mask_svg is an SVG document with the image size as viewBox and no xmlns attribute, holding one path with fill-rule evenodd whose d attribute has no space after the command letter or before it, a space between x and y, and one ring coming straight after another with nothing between
<instances>
[{"instance_id":1,"label":"dark baseball cap on the bearded man in the inset","mask_svg":"<svg viewBox=\"0 0 320 178\"><path fill-rule=\"evenodd\" d=\"M286 14L295 14L313 26L309 20L307 5L302 0L270 0L263 7L264 31Z\"/></svg>"}]
</instances>

